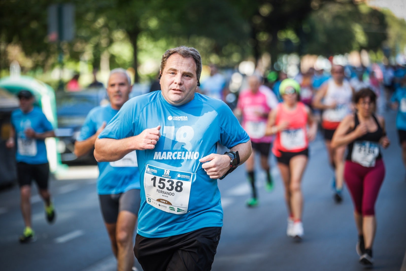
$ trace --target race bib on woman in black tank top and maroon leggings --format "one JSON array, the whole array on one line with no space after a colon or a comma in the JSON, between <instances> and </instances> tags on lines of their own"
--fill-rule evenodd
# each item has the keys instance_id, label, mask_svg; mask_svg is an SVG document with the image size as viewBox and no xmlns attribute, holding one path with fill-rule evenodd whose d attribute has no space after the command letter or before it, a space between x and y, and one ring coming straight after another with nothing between
<instances>
[{"instance_id":1,"label":"race bib on woman in black tank top and maroon leggings","mask_svg":"<svg viewBox=\"0 0 406 271\"><path fill-rule=\"evenodd\" d=\"M377 142L356 141L352 148L351 160L367 168L375 166L376 157L379 154Z\"/></svg>"}]
</instances>

